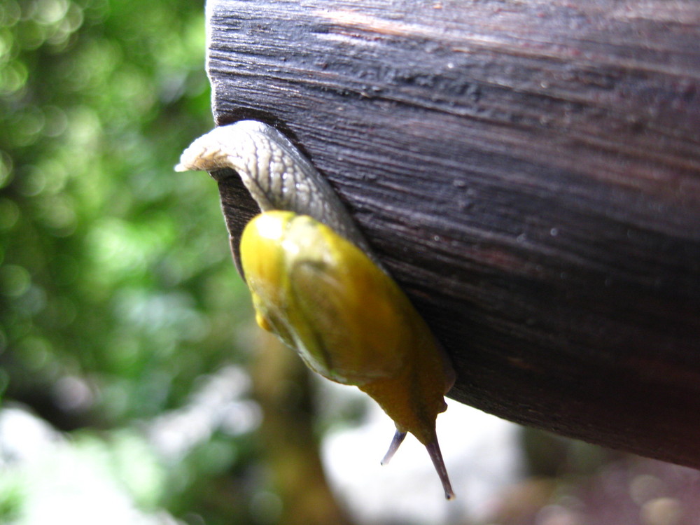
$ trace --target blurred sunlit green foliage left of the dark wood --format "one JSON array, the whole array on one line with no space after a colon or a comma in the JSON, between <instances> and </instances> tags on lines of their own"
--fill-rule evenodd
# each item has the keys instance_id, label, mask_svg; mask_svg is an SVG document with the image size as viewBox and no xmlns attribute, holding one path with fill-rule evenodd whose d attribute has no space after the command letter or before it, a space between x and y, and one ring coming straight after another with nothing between
<instances>
[{"instance_id":1,"label":"blurred sunlit green foliage left of the dark wood","mask_svg":"<svg viewBox=\"0 0 700 525\"><path fill-rule=\"evenodd\" d=\"M172 169L212 125L205 46L202 0L0 3L0 396L57 428L153 418L245 359L216 184Z\"/></svg>"}]
</instances>

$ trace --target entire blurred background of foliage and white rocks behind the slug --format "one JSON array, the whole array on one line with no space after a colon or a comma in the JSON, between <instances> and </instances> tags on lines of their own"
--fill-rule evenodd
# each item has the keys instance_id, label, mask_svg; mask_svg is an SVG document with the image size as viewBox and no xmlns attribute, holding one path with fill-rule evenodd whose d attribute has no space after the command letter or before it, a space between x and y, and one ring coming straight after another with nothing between
<instances>
[{"instance_id":1,"label":"entire blurred background of foliage and white rocks behind the slug","mask_svg":"<svg viewBox=\"0 0 700 525\"><path fill-rule=\"evenodd\" d=\"M253 325L216 184L204 3L0 3L0 523L644 524L698 472L451 402L457 499Z\"/></svg>"}]
</instances>

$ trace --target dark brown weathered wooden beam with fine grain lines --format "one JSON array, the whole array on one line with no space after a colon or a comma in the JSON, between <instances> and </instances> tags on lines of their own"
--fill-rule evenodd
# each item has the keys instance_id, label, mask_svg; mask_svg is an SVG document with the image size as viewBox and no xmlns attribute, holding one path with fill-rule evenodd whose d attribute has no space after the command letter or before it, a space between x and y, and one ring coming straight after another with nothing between
<instances>
[{"instance_id":1,"label":"dark brown weathered wooden beam with fine grain lines","mask_svg":"<svg viewBox=\"0 0 700 525\"><path fill-rule=\"evenodd\" d=\"M451 398L700 467L699 2L208 18L216 122L276 125L328 176L451 354Z\"/></svg>"}]
</instances>

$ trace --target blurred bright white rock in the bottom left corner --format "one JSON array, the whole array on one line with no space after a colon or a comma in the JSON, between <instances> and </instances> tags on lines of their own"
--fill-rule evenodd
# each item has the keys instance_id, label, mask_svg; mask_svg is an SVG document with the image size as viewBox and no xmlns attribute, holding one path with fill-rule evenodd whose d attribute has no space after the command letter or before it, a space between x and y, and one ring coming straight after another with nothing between
<instances>
[{"instance_id":1,"label":"blurred bright white rock in the bottom left corner","mask_svg":"<svg viewBox=\"0 0 700 525\"><path fill-rule=\"evenodd\" d=\"M12 525L181 523L166 512L141 512L105 462L96 461L99 452L75 447L26 409L0 409L0 487L17 498Z\"/></svg>"}]
</instances>

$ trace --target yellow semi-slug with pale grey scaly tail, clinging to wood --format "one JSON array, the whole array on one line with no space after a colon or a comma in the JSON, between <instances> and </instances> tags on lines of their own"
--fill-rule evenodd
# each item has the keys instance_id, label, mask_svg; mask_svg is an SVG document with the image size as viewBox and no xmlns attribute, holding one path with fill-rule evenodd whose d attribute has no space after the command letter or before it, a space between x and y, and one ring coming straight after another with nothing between
<instances>
[{"instance_id":1,"label":"yellow semi-slug with pale grey scaly tail, clinging to wood","mask_svg":"<svg viewBox=\"0 0 700 525\"><path fill-rule=\"evenodd\" d=\"M405 293L381 266L328 181L269 125L216 127L182 154L176 171L232 168L262 214L239 244L261 328L323 377L355 385L391 417L387 463L407 433L430 455L454 497L435 419L454 371Z\"/></svg>"}]
</instances>

